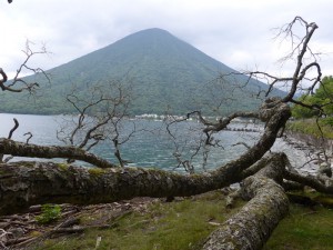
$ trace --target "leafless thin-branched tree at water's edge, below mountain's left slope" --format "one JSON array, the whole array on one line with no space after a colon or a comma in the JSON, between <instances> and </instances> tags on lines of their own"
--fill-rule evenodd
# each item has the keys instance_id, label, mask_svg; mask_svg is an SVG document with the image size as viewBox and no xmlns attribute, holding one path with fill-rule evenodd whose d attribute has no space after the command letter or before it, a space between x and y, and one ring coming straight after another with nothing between
<instances>
[{"instance_id":1,"label":"leafless thin-branched tree at water's edge, below mountain's left slope","mask_svg":"<svg viewBox=\"0 0 333 250\"><path fill-rule=\"evenodd\" d=\"M135 132L121 134L122 122L129 117L131 103L131 87L120 81L110 81L108 84L90 84L90 98L81 98L73 88L67 96L67 101L74 108L78 116L68 116L61 120L62 128L57 137L65 144L90 151L101 141L109 139L114 147L114 156L120 166L124 167L120 146L127 142ZM68 162L73 162L69 159Z\"/></svg>"}]
</instances>

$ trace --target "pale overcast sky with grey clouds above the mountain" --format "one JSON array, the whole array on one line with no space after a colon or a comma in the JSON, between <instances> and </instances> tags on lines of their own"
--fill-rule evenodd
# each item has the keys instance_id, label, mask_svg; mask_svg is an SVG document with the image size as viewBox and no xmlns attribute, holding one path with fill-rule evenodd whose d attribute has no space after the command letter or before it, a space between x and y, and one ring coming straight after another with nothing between
<instances>
[{"instance_id":1,"label":"pale overcast sky with grey clouds above the mountain","mask_svg":"<svg viewBox=\"0 0 333 250\"><path fill-rule=\"evenodd\" d=\"M301 16L316 22L313 46L333 74L332 0L0 0L0 67L9 76L24 59L27 39L46 43L43 69L71 61L135 31L161 28L236 70L290 72L276 61L286 44L273 28Z\"/></svg>"}]
</instances>

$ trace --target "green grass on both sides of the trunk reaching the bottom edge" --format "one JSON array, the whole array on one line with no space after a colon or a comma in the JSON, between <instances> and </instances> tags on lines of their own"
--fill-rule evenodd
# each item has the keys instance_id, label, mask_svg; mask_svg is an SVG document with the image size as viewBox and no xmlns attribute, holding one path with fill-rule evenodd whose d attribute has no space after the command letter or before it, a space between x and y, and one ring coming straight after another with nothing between
<instances>
[{"instance_id":1,"label":"green grass on both sides of the trunk reaching the bottom edge","mask_svg":"<svg viewBox=\"0 0 333 250\"><path fill-rule=\"evenodd\" d=\"M95 249L99 237L99 250L201 249L204 239L241 204L239 201L236 209L225 209L224 197L218 191L170 203L155 202L144 213L128 212L110 221L112 229L48 239L32 249ZM290 214L280 222L264 250L331 250L332 236L333 210L291 204Z\"/></svg>"}]
</instances>

